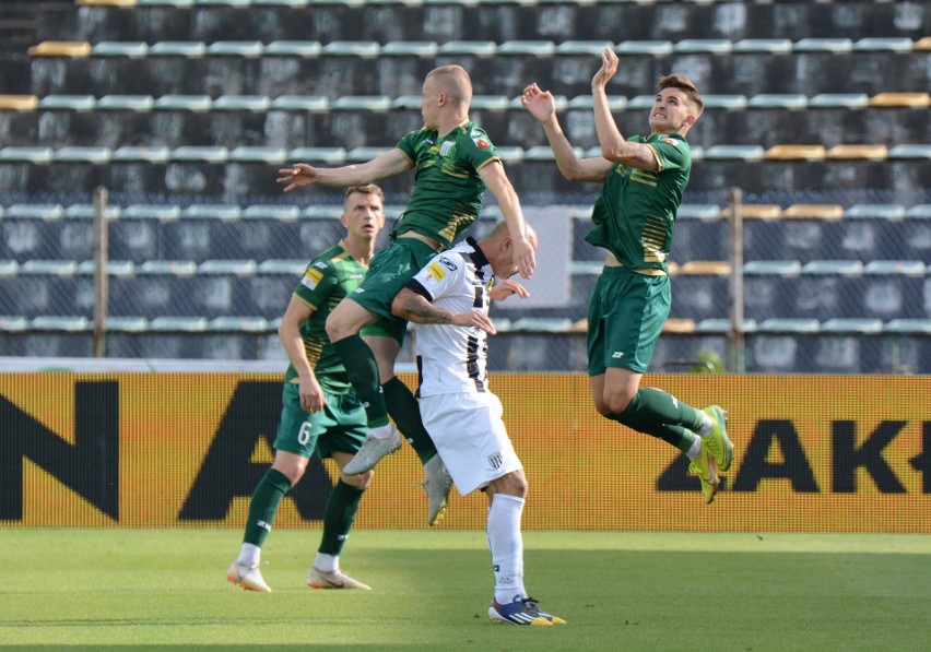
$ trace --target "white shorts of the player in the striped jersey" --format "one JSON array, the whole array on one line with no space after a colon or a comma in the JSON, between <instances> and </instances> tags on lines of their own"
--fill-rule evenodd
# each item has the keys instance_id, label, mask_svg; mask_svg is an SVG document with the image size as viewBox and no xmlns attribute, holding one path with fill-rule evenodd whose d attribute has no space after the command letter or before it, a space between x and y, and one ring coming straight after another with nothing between
<instances>
[{"instance_id":1,"label":"white shorts of the player in the striped jersey","mask_svg":"<svg viewBox=\"0 0 931 652\"><path fill-rule=\"evenodd\" d=\"M522 469L492 393L421 398L421 418L461 496Z\"/></svg>"}]
</instances>

